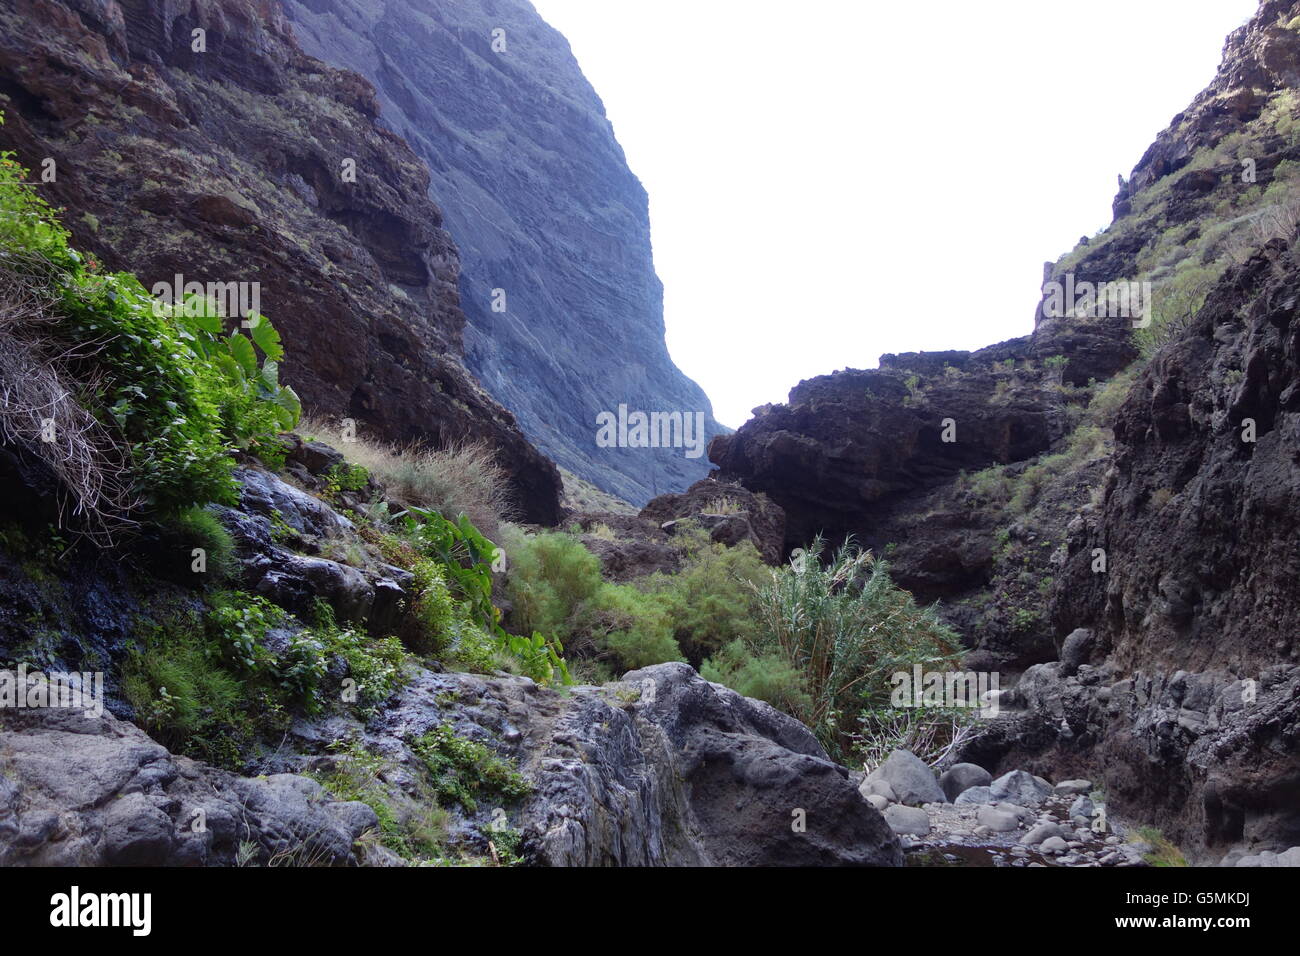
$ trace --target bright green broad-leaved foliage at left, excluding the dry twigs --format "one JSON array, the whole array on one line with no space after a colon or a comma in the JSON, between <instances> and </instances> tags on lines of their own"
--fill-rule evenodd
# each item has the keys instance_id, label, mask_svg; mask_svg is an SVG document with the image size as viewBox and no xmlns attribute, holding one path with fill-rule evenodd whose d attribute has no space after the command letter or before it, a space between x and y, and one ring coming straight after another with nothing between
<instances>
[{"instance_id":1,"label":"bright green broad-leaved foliage at left, excluding the dry twigs","mask_svg":"<svg viewBox=\"0 0 1300 956\"><path fill-rule=\"evenodd\" d=\"M229 451L277 462L276 433L300 411L278 384L283 350L270 323L255 315L250 336L226 336L208 303L166 306L134 276L101 273L69 246L29 178L0 152L0 268L43 303L52 347L86 356L69 364L82 386L75 401L121 442L133 497L161 514L231 502Z\"/></svg>"}]
</instances>

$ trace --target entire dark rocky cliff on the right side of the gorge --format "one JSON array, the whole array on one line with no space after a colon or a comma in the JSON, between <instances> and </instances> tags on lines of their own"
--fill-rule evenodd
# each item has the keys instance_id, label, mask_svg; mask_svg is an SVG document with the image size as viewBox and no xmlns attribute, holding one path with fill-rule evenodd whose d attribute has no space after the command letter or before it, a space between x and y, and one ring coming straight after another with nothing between
<instances>
[{"instance_id":1,"label":"entire dark rocky cliff on the right side of the gorge","mask_svg":"<svg viewBox=\"0 0 1300 956\"><path fill-rule=\"evenodd\" d=\"M864 538L968 666L1027 669L967 758L1104 780L1201 861L1300 835L1297 86L1300 4L1266 1L1031 336L802 382L710 450L788 546ZM1067 281L1150 308L1056 311Z\"/></svg>"}]
</instances>

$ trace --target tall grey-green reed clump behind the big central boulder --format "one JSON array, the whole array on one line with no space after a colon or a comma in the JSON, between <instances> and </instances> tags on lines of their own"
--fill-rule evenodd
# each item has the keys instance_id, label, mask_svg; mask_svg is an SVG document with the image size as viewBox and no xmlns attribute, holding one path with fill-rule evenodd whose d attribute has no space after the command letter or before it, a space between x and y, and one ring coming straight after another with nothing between
<instances>
[{"instance_id":1,"label":"tall grey-green reed clump behind the big central boulder","mask_svg":"<svg viewBox=\"0 0 1300 956\"><path fill-rule=\"evenodd\" d=\"M841 754L858 713L889 701L894 672L953 662L959 643L932 607L893 584L885 561L852 541L824 566L822 551L818 538L758 588L758 627L746 644L777 687L768 702L789 708ZM777 659L784 671L772 670ZM722 683L744 683L744 661L728 648L708 669ZM801 683L792 687L790 674Z\"/></svg>"}]
</instances>

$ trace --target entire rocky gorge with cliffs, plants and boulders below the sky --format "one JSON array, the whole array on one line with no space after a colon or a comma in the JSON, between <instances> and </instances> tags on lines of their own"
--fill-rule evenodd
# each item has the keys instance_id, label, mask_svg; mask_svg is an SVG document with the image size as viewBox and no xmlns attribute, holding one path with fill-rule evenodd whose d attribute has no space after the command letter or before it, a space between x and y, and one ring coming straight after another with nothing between
<instances>
[{"instance_id":1,"label":"entire rocky gorge with cliffs, plants and boulders below the sky","mask_svg":"<svg viewBox=\"0 0 1300 956\"><path fill-rule=\"evenodd\" d=\"M0 666L105 713L0 864L1295 865L1297 87L1264 0L1027 334L732 433L525 0L13 0Z\"/></svg>"}]
</instances>

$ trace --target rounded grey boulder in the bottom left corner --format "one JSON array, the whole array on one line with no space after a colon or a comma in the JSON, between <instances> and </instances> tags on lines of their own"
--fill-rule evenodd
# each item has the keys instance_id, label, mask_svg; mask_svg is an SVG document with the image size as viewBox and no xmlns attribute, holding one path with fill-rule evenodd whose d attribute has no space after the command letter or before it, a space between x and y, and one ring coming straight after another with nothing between
<instances>
[{"instance_id":1,"label":"rounded grey boulder in the bottom left corner","mask_svg":"<svg viewBox=\"0 0 1300 956\"><path fill-rule=\"evenodd\" d=\"M255 862L348 865L378 826L369 806L315 780L176 757L108 711L9 711L0 752L5 866L229 866L240 845Z\"/></svg>"}]
</instances>

